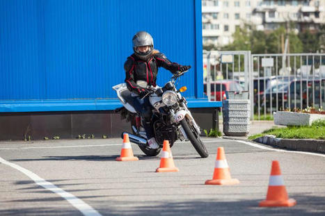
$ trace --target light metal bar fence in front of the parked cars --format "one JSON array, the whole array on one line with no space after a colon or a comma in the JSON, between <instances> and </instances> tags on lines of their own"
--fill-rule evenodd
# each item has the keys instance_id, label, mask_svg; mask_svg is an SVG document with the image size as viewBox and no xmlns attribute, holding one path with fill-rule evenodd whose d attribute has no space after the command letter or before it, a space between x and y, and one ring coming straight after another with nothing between
<instances>
[{"instance_id":1,"label":"light metal bar fence in front of the parked cars","mask_svg":"<svg viewBox=\"0 0 325 216\"><path fill-rule=\"evenodd\" d=\"M251 54L204 51L205 94L225 99L227 90L248 90L251 119L271 119L276 110L325 107L325 54Z\"/></svg>"}]
</instances>

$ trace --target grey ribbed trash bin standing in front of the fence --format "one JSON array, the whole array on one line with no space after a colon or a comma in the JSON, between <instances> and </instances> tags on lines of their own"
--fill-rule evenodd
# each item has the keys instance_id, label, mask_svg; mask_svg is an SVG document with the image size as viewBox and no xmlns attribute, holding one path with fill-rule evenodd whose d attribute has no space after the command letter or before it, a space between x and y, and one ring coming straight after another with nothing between
<instances>
[{"instance_id":1,"label":"grey ribbed trash bin standing in front of the fence","mask_svg":"<svg viewBox=\"0 0 325 216\"><path fill-rule=\"evenodd\" d=\"M225 92L223 101L223 133L229 136L246 136L250 129L251 102L248 91Z\"/></svg>"}]
</instances>

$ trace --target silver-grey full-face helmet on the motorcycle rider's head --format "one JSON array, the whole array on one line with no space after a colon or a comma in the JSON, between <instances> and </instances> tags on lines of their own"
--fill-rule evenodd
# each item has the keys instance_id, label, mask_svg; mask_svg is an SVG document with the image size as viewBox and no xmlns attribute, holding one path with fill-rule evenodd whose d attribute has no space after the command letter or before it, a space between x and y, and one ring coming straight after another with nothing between
<instances>
[{"instance_id":1,"label":"silver-grey full-face helmet on the motorcycle rider's head","mask_svg":"<svg viewBox=\"0 0 325 216\"><path fill-rule=\"evenodd\" d=\"M154 40L152 39L150 33L145 31L139 31L136 33L133 38L133 51L138 58L141 58L142 60L148 60L150 58L152 51L154 50ZM141 52L138 51L138 47L144 47L149 46L148 51Z\"/></svg>"}]
</instances>

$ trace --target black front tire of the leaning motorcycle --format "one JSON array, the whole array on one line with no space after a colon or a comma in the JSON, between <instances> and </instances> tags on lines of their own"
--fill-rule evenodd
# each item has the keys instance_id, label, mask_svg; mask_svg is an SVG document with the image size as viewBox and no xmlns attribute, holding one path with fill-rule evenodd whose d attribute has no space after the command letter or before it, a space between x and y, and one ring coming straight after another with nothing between
<instances>
[{"instance_id":1,"label":"black front tire of the leaning motorcycle","mask_svg":"<svg viewBox=\"0 0 325 216\"><path fill-rule=\"evenodd\" d=\"M197 135L195 129L189 125L189 122L186 117L182 119L181 124L185 133L187 134L187 138L189 138L189 141L191 141L193 147L196 149L196 151L198 151L198 154L202 158L207 158L207 156L209 156L207 148L200 139L200 135Z\"/></svg>"}]
</instances>

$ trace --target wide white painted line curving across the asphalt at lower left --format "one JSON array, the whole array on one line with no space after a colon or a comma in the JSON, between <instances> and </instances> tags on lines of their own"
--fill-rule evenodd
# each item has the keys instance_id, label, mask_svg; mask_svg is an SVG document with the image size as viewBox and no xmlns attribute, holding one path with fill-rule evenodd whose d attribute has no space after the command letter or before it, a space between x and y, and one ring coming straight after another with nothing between
<instances>
[{"instance_id":1,"label":"wide white painted line curving across the asphalt at lower left","mask_svg":"<svg viewBox=\"0 0 325 216\"><path fill-rule=\"evenodd\" d=\"M42 186L47 190L50 190L51 192L58 194L60 197L62 197L63 199L71 203L72 206L74 206L74 208L77 208L85 216L102 216L100 215L100 213L97 212L97 210L93 209L91 206L89 206L87 203L85 203L78 197L74 197L73 194L66 192L61 188L56 187L56 185L50 183L49 181L45 181L45 179L40 178L40 176L34 174L28 169L25 169L24 167L20 167L15 163L10 163L7 160L4 160L3 158L0 158L0 163L3 163L4 165L8 165L10 167L13 167L14 169L17 169L19 172L22 172L26 176L29 176L29 178L35 181L36 184Z\"/></svg>"}]
</instances>

